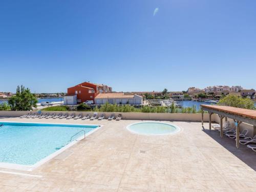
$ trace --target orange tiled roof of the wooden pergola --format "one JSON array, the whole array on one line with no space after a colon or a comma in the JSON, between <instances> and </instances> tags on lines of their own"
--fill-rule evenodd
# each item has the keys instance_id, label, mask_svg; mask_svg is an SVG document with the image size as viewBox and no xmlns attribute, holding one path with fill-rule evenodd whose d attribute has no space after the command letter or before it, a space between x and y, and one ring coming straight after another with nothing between
<instances>
[{"instance_id":1,"label":"orange tiled roof of the wooden pergola","mask_svg":"<svg viewBox=\"0 0 256 192\"><path fill-rule=\"evenodd\" d=\"M221 106L221 105L206 105L201 104L202 107L213 109L225 113L240 115L243 117L249 117L251 119L256 119L256 110L247 110L242 108L233 108L232 106Z\"/></svg>"}]
</instances>

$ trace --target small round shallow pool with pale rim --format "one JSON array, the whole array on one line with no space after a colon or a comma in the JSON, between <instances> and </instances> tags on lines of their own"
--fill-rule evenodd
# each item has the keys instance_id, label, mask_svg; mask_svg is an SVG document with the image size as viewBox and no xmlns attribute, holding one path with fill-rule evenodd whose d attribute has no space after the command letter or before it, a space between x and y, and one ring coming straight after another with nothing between
<instances>
[{"instance_id":1,"label":"small round shallow pool with pale rim","mask_svg":"<svg viewBox=\"0 0 256 192\"><path fill-rule=\"evenodd\" d=\"M139 122L130 124L126 128L141 135L170 135L181 130L177 125L162 122Z\"/></svg>"}]
</instances>

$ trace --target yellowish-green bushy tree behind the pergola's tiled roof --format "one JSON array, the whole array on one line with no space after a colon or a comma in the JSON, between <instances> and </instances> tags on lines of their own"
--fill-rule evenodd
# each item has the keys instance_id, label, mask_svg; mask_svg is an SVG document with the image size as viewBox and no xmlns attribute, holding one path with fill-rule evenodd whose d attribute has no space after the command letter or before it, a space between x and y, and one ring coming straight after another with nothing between
<instances>
[{"instance_id":1,"label":"yellowish-green bushy tree behind the pergola's tiled roof","mask_svg":"<svg viewBox=\"0 0 256 192\"><path fill-rule=\"evenodd\" d=\"M254 109L254 103L251 99L242 98L237 95L227 95L220 99L219 105L233 106L235 108Z\"/></svg>"}]
</instances>

